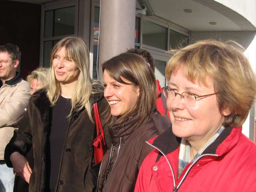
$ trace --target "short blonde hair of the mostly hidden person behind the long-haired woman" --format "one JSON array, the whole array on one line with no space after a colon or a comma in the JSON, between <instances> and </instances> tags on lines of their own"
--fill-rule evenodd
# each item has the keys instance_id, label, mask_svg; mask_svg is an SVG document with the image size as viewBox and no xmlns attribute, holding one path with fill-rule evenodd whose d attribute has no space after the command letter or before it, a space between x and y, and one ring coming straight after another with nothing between
<instances>
[{"instance_id":1,"label":"short blonde hair of the mostly hidden person behind the long-haired woman","mask_svg":"<svg viewBox=\"0 0 256 192\"><path fill-rule=\"evenodd\" d=\"M31 84L32 80L36 79L41 87L46 86L48 84L48 72L49 68L38 67L27 76L26 80L28 84Z\"/></svg>"}]
</instances>

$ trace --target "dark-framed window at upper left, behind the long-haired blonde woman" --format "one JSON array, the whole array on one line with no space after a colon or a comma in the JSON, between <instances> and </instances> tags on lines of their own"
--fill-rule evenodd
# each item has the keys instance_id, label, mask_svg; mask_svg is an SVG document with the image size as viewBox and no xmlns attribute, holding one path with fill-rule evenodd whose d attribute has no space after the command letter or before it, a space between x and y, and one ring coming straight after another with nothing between
<instances>
[{"instance_id":1,"label":"dark-framed window at upper left, behind the long-haired blonde woman","mask_svg":"<svg viewBox=\"0 0 256 192\"><path fill-rule=\"evenodd\" d=\"M78 34L78 1L61 0L42 6L40 66L50 66L52 47L67 36Z\"/></svg>"}]
</instances>

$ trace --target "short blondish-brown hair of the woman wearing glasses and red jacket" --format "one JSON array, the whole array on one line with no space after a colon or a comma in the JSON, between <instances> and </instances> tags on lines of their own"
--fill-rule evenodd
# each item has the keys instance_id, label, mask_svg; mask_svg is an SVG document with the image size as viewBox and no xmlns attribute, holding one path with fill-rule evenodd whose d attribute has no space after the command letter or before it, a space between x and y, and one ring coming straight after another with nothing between
<instances>
[{"instance_id":1,"label":"short blondish-brown hair of the woman wearing glasses and red jacket","mask_svg":"<svg viewBox=\"0 0 256 192\"><path fill-rule=\"evenodd\" d=\"M219 110L231 112L223 125L242 126L256 95L256 76L244 48L234 41L202 40L169 53L173 56L166 66L166 78L170 80L180 68L192 82L207 86L206 78L212 78Z\"/></svg>"}]
</instances>

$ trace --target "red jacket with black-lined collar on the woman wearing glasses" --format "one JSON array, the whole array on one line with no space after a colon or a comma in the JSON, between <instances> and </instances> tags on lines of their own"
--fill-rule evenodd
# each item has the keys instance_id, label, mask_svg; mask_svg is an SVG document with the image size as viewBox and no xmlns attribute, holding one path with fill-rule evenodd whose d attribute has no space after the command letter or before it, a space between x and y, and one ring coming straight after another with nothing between
<instances>
[{"instance_id":1,"label":"red jacket with black-lined collar on the woman wearing glasses","mask_svg":"<svg viewBox=\"0 0 256 192\"><path fill-rule=\"evenodd\" d=\"M256 192L256 145L241 128L225 128L179 178L180 138L167 130L148 141L134 192Z\"/></svg>"}]
</instances>

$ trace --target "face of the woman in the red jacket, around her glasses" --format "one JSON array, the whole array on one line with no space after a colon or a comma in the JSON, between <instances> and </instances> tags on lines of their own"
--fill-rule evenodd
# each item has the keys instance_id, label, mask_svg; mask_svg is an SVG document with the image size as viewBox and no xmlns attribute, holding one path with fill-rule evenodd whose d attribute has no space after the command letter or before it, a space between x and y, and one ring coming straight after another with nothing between
<instances>
[{"instance_id":1,"label":"face of the woman in the red jacket, around her glasses","mask_svg":"<svg viewBox=\"0 0 256 192\"><path fill-rule=\"evenodd\" d=\"M215 93L213 81L207 78L207 85L188 80L182 69L172 74L168 86L175 92L192 92L198 96ZM220 112L216 94L198 98L194 106L184 104L179 95L174 100L167 100L173 133L188 142L204 144L222 126L227 111Z\"/></svg>"}]
</instances>

